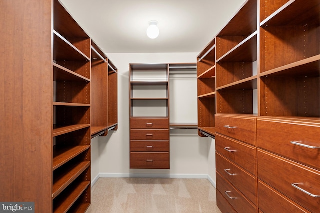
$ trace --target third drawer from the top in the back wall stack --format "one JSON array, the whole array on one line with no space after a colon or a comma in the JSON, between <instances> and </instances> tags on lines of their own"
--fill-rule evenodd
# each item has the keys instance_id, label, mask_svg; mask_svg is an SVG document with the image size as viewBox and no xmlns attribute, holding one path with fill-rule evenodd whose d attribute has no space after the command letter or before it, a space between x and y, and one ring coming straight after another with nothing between
<instances>
[{"instance_id":1,"label":"third drawer from the top in the back wall stack","mask_svg":"<svg viewBox=\"0 0 320 213\"><path fill-rule=\"evenodd\" d=\"M168 152L169 141L130 141L130 151Z\"/></svg>"}]
</instances>

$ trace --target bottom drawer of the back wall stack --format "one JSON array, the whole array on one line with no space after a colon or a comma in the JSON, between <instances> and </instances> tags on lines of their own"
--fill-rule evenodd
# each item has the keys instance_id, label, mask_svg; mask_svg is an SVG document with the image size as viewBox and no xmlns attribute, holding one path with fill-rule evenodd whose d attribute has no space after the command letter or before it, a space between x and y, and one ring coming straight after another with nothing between
<instances>
[{"instance_id":1,"label":"bottom drawer of the back wall stack","mask_svg":"<svg viewBox=\"0 0 320 213\"><path fill-rule=\"evenodd\" d=\"M170 169L169 152L130 152L130 168Z\"/></svg>"}]
</instances>

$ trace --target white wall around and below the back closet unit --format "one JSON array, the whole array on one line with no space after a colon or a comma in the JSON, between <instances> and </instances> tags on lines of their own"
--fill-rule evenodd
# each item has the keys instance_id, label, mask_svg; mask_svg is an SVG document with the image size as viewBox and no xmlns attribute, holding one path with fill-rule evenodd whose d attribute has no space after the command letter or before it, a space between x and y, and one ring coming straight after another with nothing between
<instances>
[{"instance_id":1,"label":"white wall around and below the back closet unit","mask_svg":"<svg viewBox=\"0 0 320 213\"><path fill-rule=\"evenodd\" d=\"M215 182L215 146L196 130L171 130L169 170L129 169L129 63L196 62L198 53L107 53L118 68L118 130L92 140L92 180L101 177L200 177ZM196 89L196 88L195 88ZM194 99L196 102L196 98ZM98 160L97 160L98 159ZM98 168L98 169L97 169ZM99 172L97 172L99 171ZM214 184L214 183L213 183Z\"/></svg>"}]
</instances>

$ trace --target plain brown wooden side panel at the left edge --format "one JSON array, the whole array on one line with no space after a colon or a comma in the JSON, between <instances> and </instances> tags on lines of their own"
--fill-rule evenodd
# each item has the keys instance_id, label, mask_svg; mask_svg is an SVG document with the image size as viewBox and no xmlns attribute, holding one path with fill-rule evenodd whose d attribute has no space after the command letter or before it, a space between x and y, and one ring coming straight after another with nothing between
<instances>
[{"instance_id":1,"label":"plain brown wooden side panel at the left edge","mask_svg":"<svg viewBox=\"0 0 320 213\"><path fill-rule=\"evenodd\" d=\"M41 213L52 209L51 6L0 2L0 200Z\"/></svg>"}]
</instances>

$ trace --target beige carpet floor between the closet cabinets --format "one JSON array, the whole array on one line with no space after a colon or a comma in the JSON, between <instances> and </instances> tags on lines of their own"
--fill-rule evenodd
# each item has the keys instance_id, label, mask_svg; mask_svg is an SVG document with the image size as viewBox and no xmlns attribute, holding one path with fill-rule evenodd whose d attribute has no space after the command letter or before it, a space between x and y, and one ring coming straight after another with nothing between
<instances>
[{"instance_id":1,"label":"beige carpet floor between the closet cabinets","mask_svg":"<svg viewBox=\"0 0 320 213\"><path fill-rule=\"evenodd\" d=\"M86 213L221 213L207 179L99 178Z\"/></svg>"}]
</instances>

